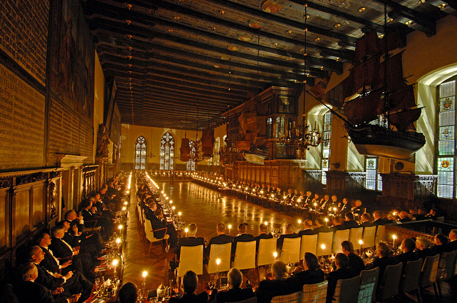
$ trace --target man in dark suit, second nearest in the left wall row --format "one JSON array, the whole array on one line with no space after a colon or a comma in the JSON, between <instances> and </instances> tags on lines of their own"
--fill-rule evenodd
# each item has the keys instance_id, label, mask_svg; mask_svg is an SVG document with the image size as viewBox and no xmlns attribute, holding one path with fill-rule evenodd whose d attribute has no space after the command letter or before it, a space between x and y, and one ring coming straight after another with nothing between
<instances>
[{"instance_id":1,"label":"man in dark suit, second nearest in the left wall row","mask_svg":"<svg viewBox=\"0 0 457 303\"><path fill-rule=\"evenodd\" d=\"M28 261L34 263L38 270L38 277L35 280L36 283L43 285L51 292L54 292L57 288L61 287L63 291L58 292L60 294L58 301L63 299L64 303L67 302L67 298L71 298L76 294L82 294L82 301L89 298L90 292L92 291L92 283L89 280L78 272L68 272L65 276L48 272L45 268L40 266L41 261L44 260L44 255L44 251L39 246L28 248Z\"/></svg>"}]
</instances>

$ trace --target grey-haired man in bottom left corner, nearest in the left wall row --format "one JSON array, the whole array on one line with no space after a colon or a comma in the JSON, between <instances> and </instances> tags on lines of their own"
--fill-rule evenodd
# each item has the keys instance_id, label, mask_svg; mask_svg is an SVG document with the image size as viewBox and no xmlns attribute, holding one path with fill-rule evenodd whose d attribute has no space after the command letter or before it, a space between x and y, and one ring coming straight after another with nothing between
<instances>
[{"instance_id":1,"label":"grey-haired man in bottom left corner, nearest in the left wall row","mask_svg":"<svg viewBox=\"0 0 457 303\"><path fill-rule=\"evenodd\" d=\"M18 268L21 281L14 286L14 293L20 302L30 303L54 303L53 294L57 295L61 289L51 293L49 289L41 284L35 283L38 278L38 269L34 263L27 262ZM72 298L71 302L76 302L79 296Z\"/></svg>"}]
</instances>

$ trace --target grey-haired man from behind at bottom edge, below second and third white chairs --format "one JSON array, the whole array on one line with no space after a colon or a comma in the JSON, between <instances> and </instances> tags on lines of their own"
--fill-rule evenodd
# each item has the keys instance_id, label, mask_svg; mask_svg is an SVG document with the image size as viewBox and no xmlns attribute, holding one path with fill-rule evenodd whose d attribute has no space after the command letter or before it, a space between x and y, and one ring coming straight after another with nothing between
<instances>
[{"instance_id":1,"label":"grey-haired man from behind at bottom edge, below second and third white chairs","mask_svg":"<svg viewBox=\"0 0 457 303\"><path fill-rule=\"evenodd\" d=\"M241 283L243 283L243 275L238 269L232 268L227 274L228 291L219 291L216 302L238 302L252 298L254 296L252 288L242 289Z\"/></svg>"}]
</instances>

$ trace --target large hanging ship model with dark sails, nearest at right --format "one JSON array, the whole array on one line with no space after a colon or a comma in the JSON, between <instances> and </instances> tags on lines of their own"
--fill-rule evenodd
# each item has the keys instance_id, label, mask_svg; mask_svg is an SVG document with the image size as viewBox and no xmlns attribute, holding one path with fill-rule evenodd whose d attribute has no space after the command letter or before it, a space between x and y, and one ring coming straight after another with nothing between
<instances>
[{"instance_id":1,"label":"large hanging ship model with dark sails, nearest at right","mask_svg":"<svg viewBox=\"0 0 457 303\"><path fill-rule=\"evenodd\" d=\"M400 47L398 31L383 39L376 30L366 34L356 44L349 77L323 98L342 107L346 119L340 112L336 114L343 118L361 155L406 160L426 143L425 136L415 130L414 122L423 107L417 107L414 87L403 76L403 52L394 56L389 53Z\"/></svg>"}]
</instances>

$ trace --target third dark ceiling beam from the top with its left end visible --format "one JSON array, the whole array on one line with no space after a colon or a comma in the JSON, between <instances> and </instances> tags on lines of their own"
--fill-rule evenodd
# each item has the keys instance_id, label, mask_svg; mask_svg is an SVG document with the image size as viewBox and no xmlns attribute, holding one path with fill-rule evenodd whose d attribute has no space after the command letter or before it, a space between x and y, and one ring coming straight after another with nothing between
<instances>
[{"instance_id":1,"label":"third dark ceiling beam from the top with its left end visible","mask_svg":"<svg viewBox=\"0 0 457 303\"><path fill-rule=\"evenodd\" d=\"M218 59L218 58L207 57L207 56L204 56L204 55L197 55L197 54L194 54L194 53L188 53L188 52L184 52L184 51L180 51L180 50L176 50L176 49L171 49L171 48L163 47L163 46L153 46L151 44L143 43L141 41L135 41L134 43L132 43L131 40L130 41L125 41L124 40L123 43L125 43L125 45L115 45L112 42L107 41L109 39L106 36L101 36L99 34L99 39L102 39L102 41L99 40L97 45L107 44L107 45L110 45L110 46L113 46L113 47L116 47L116 48L124 49L125 51L127 51L127 43L128 43L128 45L130 47L133 47L133 50L138 50L138 51L141 50L143 53L146 53L146 51L144 51L144 50L150 50L151 47L154 47L154 53L153 53L154 57L157 58L157 59L160 59L160 60L164 60L164 61L174 60L174 59L169 59L169 58L176 57L176 58L184 59L186 61L191 61L192 64L193 64L193 60L200 60L200 61L211 62L212 66L214 66L214 65L223 65L223 66L226 66L228 68L228 65L231 64L232 68L250 69L253 72L256 72L256 70L257 70L256 64L255 65L250 65L250 64L239 63L239 62L231 62L230 63L228 60L222 60L222 59ZM147 53L149 55L151 55L151 51L148 51ZM160 53L160 55L157 55L158 53ZM331 54L329 54L329 55L331 55ZM225 68L226 72L228 72L227 68ZM284 77L284 73L286 73L287 71L284 70L282 68L282 66L277 66L276 68L278 68L278 69L277 69L277 71L275 73L278 73L278 74L282 73L283 74L282 77ZM272 69L269 66L259 65L259 71L260 72L271 73ZM292 70L292 72L294 72L294 73L302 73L303 74L303 68ZM310 67L310 66L308 66L307 72L310 73L311 76L318 77L318 78L327 77L327 74L328 74L327 72L320 70L320 68L313 68L313 67ZM292 78L293 75L289 75L288 77ZM297 79L297 80L303 81L303 79Z\"/></svg>"}]
</instances>

